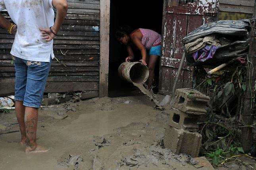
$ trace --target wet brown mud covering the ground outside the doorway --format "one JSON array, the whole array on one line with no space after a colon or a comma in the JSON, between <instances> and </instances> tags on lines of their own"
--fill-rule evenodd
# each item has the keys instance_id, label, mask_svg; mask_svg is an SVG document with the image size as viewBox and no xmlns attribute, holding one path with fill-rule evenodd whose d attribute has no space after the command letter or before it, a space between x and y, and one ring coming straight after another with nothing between
<instances>
[{"instance_id":1,"label":"wet brown mud covering the ground outside the doorway","mask_svg":"<svg viewBox=\"0 0 256 170\"><path fill-rule=\"evenodd\" d=\"M159 101L164 96L157 95ZM39 109L38 144L46 153L25 153L14 111L0 114L3 170L210 170L185 154L162 147L169 109L154 109L146 95L93 98ZM207 160L206 160L207 162ZM252 162L253 164L253 162ZM237 164L232 170L247 169ZM224 168L227 169L227 168Z\"/></svg>"}]
</instances>

